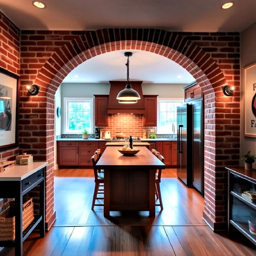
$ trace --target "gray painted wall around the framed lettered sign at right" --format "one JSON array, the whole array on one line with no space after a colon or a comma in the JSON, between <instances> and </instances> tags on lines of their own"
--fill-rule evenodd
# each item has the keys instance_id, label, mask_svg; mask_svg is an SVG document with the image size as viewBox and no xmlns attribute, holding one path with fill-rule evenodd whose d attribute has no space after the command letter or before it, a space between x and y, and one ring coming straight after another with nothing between
<instances>
[{"instance_id":1,"label":"gray painted wall around the framed lettered sign at right","mask_svg":"<svg viewBox=\"0 0 256 256\"><path fill-rule=\"evenodd\" d=\"M241 33L241 129L240 129L240 143L241 143L241 155L251 150L252 154L256 155L256 138L250 138L244 136L244 91L243 91L243 68L254 62L256 62L256 22ZM243 162L240 163L243 165ZM253 164L255 168L256 164Z\"/></svg>"}]
</instances>

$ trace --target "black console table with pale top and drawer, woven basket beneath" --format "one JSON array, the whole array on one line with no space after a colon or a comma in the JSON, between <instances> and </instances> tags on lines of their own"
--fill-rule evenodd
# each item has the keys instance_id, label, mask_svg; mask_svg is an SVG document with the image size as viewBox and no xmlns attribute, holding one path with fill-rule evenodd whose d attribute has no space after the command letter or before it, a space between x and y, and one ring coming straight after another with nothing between
<instances>
[{"instance_id":1,"label":"black console table with pale top and drawer, woven basket beneath","mask_svg":"<svg viewBox=\"0 0 256 256\"><path fill-rule=\"evenodd\" d=\"M45 235L45 169L48 162L15 165L0 172L0 198L15 198L15 240L0 241L0 247L15 247L15 256L22 256L22 243L38 227L40 236ZM22 232L22 197L39 185L39 215Z\"/></svg>"}]
</instances>

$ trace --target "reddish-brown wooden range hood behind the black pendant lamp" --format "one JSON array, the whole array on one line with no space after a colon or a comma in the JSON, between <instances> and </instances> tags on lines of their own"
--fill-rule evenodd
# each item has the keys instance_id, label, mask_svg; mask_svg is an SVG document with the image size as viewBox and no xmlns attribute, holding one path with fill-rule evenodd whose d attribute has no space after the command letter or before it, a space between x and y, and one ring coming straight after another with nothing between
<instances>
[{"instance_id":1,"label":"reddish-brown wooden range hood behind the black pendant lamp","mask_svg":"<svg viewBox=\"0 0 256 256\"><path fill-rule=\"evenodd\" d=\"M142 81L131 81L132 88L140 95L140 99L134 104L121 104L116 99L119 91L123 90L127 81L110 81L110 95L108 97L108 114L116 113L134 113L144 114L144 98L142 93Z\"/></svg>"}]
</instances>

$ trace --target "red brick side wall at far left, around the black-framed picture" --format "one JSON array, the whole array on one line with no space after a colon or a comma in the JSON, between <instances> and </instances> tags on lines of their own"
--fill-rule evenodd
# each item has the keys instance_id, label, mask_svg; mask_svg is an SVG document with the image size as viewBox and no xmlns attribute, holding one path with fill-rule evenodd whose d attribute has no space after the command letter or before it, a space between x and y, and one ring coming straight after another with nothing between
<instances>
[{"instance_id":1,"label":"red brick side wall at far left, around the black-framed picture","mask_svg":"<svg viewBox=\"0 0 256 256\"><path fill-rule=\"evenodd\" d=\"M20 30L0 12L0 67L20 74ZM0 159L12 160L18 148L0 150Z\"/></svg>"}]
</instances>

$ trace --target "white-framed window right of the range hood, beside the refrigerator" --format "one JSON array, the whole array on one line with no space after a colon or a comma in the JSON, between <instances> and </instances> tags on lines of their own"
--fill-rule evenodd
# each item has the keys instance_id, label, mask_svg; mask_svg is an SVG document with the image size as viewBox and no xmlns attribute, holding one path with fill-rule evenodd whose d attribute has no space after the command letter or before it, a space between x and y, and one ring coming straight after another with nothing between
<instances>
[{"instance_id":1,"label":"white-framed window right of the range hood, beside the refrigerator","mask_svg":"<svg viewBox=\"0 0 256 256\"><path fill-rule=\"evenodd\" d=\"M158 98L157 104L157 133L177 133L177 106L184 103L183 98Z\"/></svg>"}]
</instances>

